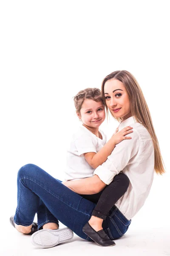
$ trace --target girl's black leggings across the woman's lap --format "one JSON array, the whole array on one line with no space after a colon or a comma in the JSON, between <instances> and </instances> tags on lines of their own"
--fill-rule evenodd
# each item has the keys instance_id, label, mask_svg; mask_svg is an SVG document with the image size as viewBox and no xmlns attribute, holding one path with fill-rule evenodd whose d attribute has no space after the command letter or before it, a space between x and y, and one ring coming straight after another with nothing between
<instances>
[{"instance_id":1,"label":"girl's black leggings across the woman's lap","mask_svg":"<svg viewBox=\"0 0 170 256\"><path fill-rule=\"evenodd\" d=\"M92 215L105 220L110 209L119 200L119 198L125 194L128 186L129 178L125 174L119 173L101 192L93 195L81 196L93 203L96 203L96 207L94 208Z\"/></svg>"}]
</instances>

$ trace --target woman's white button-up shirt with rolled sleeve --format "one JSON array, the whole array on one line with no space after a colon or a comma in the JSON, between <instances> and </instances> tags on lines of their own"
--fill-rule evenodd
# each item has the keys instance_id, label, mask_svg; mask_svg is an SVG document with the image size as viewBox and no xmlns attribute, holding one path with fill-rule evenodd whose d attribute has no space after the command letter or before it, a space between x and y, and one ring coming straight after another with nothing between
<instances>
[{"instance_id":1,"label":"woman's white button-up shirt with rolled sleeve","mask_svg":"<svg viewBox=\"0 0 170 256\"><path fill-rule=\"evenodd\" d=\"M130 180L125 194L116 202L116 207L130 220L143 206L153 182L154 147L147 129L136 122L133 116L119 125L119 131L126 126L133 127L133 133L117 144L111 155L94 171L94 175L106 184L110 184L114 176L123 172Z\"/></svg>"}]
</instances>

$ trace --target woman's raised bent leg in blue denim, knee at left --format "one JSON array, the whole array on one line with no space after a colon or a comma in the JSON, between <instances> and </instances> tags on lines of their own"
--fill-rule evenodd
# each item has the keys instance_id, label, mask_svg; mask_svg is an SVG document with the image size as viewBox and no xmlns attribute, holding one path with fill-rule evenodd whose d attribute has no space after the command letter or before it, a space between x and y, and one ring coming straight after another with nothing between
<instances>
[{"instance_id":1,"label":"woman's raised bent leg in blue denim, knee at left","mask_svg":"<svg viewBox=\"0 0 170 256\"><path fill-rule=\"evenodd\" d=\"M14 216L16 224L31 225L42 200L55 219L61 221L78 236L91 241L82 232L82 227L89 220L95 207L94 203L71 191L33 164L23 166L19 170L17 186L17 210ZM39 223L42 224L41 221Z\"/></svg>"}]
</instances>

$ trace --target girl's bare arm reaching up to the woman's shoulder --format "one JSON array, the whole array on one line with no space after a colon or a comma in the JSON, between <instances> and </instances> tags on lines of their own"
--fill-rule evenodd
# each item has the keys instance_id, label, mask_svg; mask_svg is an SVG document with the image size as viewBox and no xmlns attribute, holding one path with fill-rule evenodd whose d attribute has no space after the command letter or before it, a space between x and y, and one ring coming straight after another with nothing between
<instances>
[{"instance_id":1,"label":"girl's bare arm reaching up to the woman's shoulder","mask_svg":"<svg viewBox=\"0 0 170 256\"><path fill-rule=\"evenodd\" d=\"M125 135L133 132L131 129L133 129L133 127L127 126L123 128L121 131L117 132L116 134L113 134L111 139L108 140L108 142L102 147L102 149L99 152L85 153L85 160L91 167L96 169L99 165L101 165L107 160L108 156L111 154L116 144L120 143L122 140L131 139L131 137L125 137Z\"/></svg>"}]
</instances>

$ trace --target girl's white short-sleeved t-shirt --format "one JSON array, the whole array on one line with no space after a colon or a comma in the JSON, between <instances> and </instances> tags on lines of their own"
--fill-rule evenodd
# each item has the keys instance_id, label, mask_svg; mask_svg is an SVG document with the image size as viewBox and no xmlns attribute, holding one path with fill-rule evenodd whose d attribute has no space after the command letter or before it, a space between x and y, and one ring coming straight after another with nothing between
<instances>
[{"instance_id":1,"label":"girl's white short-sleeved t-shirt","mask_svg":"<svg viewBox=\"0 0 170 256\"><path fill-rule=\"evenodd\" d=\"M106 135L102 134L102 140L91 131L81 125L73 135L70 147L67 151L67 165L65 180L77 180L92 177L94 168L85 160L84 153L97 153L106 143Z\"/></svg>"}]
</instances>

